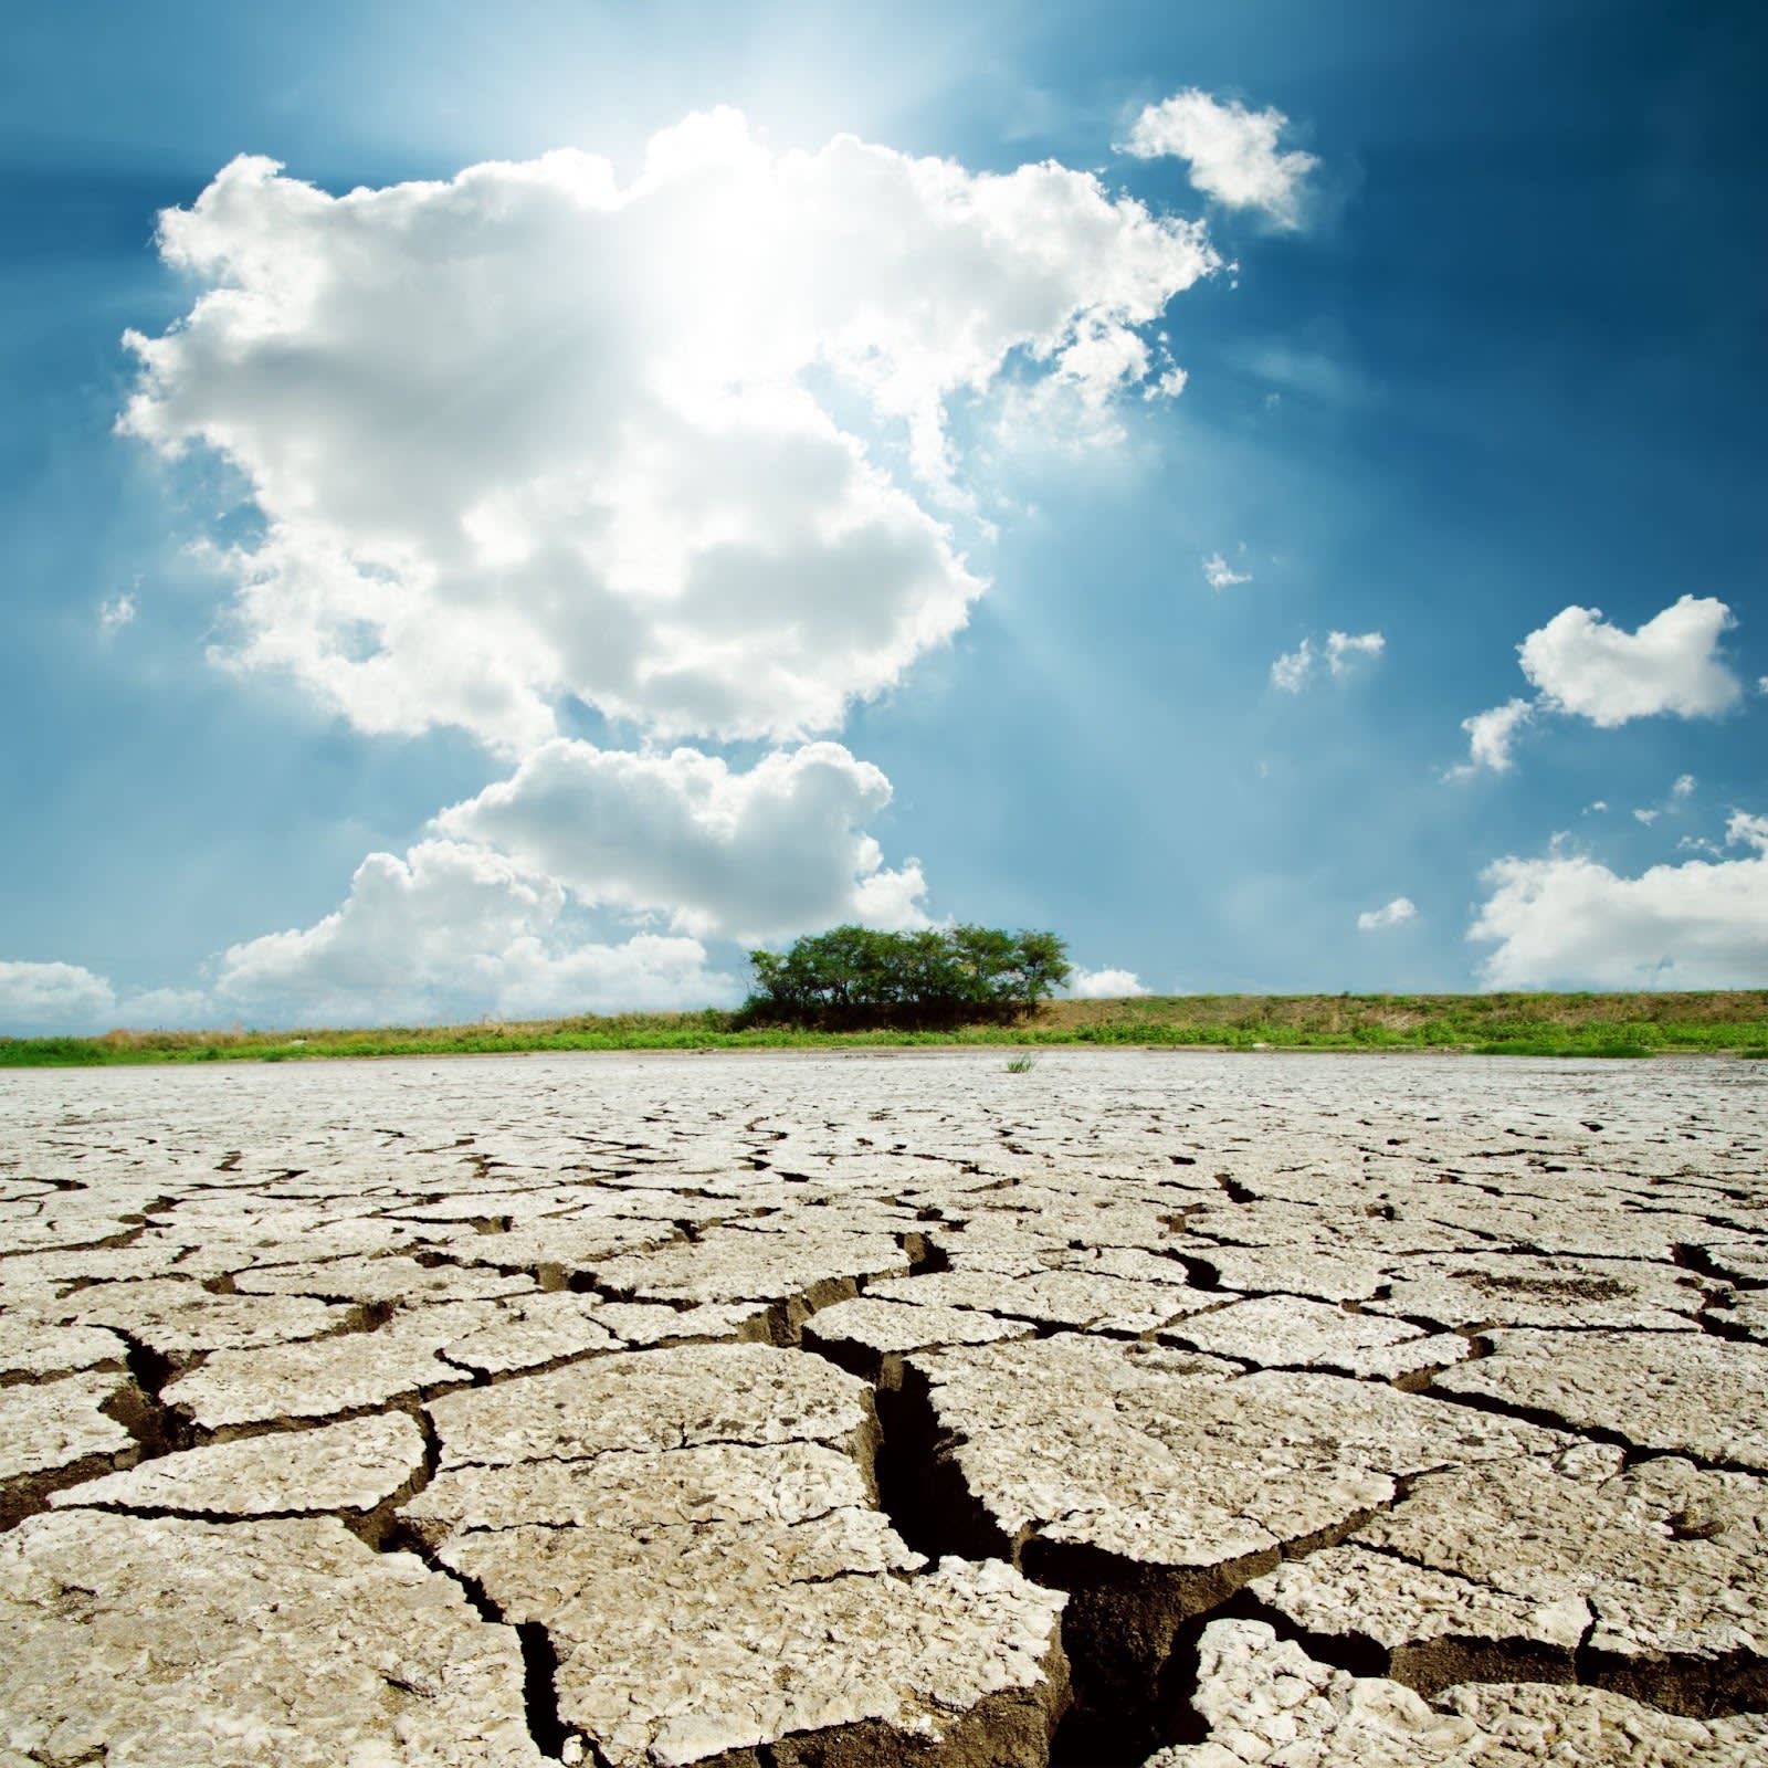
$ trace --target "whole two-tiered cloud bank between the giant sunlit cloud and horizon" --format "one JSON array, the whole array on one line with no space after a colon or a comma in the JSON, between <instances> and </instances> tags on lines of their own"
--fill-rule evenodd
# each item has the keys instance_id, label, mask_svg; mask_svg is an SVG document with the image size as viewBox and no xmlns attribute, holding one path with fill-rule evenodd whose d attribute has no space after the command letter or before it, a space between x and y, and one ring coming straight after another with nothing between
<instances>
[{"instance_id":1,"label":"whole two-tiered cloud bank between the giant sunlit cloud and horizon","mask_svg":"<svg viewBox=\"0 0 1768 1768\"><path fill-rule=\"evenodd\" d=\"M748 773L557 739L435 817L407 854L370 854L311 926L223 953L212 1006L274 1024L525 1018L730 1002L704 937L755 941L831 921L926 923L916 866L889 870L861 819L889 781L838 743ZM659 918L621 942L583 911Z\"/></svg>"}]
</instances>

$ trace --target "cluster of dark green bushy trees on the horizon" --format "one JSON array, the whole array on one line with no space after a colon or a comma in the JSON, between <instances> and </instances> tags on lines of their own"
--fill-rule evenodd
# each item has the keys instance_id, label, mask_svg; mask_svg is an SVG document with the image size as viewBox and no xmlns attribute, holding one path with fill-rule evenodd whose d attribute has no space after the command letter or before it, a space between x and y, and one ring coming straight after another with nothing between
<instances>
[{"instance_id":1,"label":"cluster of dark green bushy trees on the horizon","mask_svg":"<svg viewBox=\"0 0 1768 1768\"><path fill-rule=\"evenodd\" d=\"M751 951L750 1024L822 1031L935 1029L1024 1018L1068 981L1055 934L946 926L880 934L836 926L785 951Z\"/></svg>"}]
</instances>

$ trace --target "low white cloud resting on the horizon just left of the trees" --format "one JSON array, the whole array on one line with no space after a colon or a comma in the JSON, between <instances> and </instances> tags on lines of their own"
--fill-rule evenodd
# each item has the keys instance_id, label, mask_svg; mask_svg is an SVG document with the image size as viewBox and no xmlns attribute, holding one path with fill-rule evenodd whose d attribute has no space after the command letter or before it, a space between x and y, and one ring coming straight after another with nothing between
<instances>
[{"instance_id":1,"label":"low white cloud resting on the horizon just left of the trees","mask_svg":"<svg viewBox=\"0 0 1768 1768\"><path fill-rule=\"evenodd\" d=\"M214 985L216 1002L276 1025L698 1008L737 994L695 939L573 939L560 884L460 842L370 854L332 914L232 946Z\"/></svg>"}]
</instances>

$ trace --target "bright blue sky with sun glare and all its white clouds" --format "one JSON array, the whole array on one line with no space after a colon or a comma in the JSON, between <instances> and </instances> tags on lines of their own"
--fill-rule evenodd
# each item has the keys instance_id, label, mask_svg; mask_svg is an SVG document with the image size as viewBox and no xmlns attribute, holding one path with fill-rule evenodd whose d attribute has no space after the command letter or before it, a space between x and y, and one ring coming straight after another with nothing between
<instances>
[{"instance_id":1,"label":"bright blue sky with sun glare and all its white clouds","mask_svg":"<svg viewBox=\"0 0 1768 1768\"><path fill-rule=\"evenodd\" d=\"M1768 985L1768 12L9 18L0 1034Z\"/></svg>"}]
</instances>

